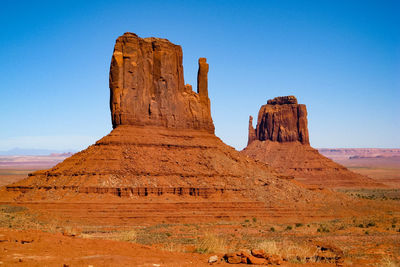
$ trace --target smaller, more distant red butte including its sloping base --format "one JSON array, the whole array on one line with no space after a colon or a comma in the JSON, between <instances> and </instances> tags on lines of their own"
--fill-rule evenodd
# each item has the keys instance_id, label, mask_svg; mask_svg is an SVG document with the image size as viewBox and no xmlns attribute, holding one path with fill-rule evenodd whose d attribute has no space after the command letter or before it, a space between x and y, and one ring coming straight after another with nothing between
<instances>
[{"instance_id":1,"label":"smaller, more distant red butte including its sloping base","mask_svg":"<svg viewBox=\"0 0 400 267\"><path fill-rule=\"evenodd\" d=\"M307 109L294 96L276 97L261 106L257 127L249 120L245 155L276 168L280 173L312 186L382 187L372 179L349 171L321 155L309 143Z\"/></svg>"}]
</instances>

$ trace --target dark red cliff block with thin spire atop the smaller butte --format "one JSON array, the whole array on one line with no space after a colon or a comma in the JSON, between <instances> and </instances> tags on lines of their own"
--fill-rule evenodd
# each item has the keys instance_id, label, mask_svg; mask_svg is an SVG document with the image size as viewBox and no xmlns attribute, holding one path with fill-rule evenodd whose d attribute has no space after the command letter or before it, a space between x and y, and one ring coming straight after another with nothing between
<instances>
[{"instance_id":1,"label":"dark red cliff block with thin spire atop the smaller butte","mask_svg":"<svg viewBox=\"0 0 400 267\"><path fill-rule=\"evenodd\" d=\"M258 112L257 128L249 122L250 144L254 140L278 142L295 142L309 144L307 128L307 109L297 104L294 96L283 96L270 99Z\"/></svg>"}]
</instances>

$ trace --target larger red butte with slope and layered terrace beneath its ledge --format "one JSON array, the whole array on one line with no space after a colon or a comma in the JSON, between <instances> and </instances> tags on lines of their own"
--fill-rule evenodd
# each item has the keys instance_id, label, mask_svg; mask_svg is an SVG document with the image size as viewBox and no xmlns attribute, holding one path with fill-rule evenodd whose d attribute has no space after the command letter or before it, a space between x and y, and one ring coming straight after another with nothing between
<instances>
[{"instance_id":1,"label":"larger red butte with slope and layered terrace beneath its ledge","mask_svg":"<svg viewBox=\"0 0 400 267\"><path fill-rule=\"evenodd\" d=\"M60 211L70 219L92 216L118 225L297 218L301 210L327 216L324 206L342 208L344 196L287 180L215 136L208 67L200 58L193 92L184 85L180 46L132 33L119 37L110 69L114 129L55 167L0 189L0 201L30 202L32 209Z\"/></svg>"}]
</instances>

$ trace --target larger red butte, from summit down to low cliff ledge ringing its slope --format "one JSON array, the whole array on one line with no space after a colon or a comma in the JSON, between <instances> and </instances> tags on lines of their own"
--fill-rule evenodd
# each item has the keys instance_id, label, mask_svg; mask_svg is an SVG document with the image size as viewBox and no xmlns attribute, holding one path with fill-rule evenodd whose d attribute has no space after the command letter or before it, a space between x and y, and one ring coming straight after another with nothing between
<instances>
[{"instance_id":1,"label":"larger red butte, from summit down to low cliff ledge ringing its slope","mask_svg":"<svg viewBox=\"0 0 400 267\"><path fill-rule=\"evenodd\" d=\"M111 59L112 132L55 167L7 186L7 191L27 199L71 194L223 194L235 199L268 191L259 184L304 190L214 135L208 70L206 59L200 58L197 93L193 92L184 84L180 46L125 33L117 39ZM274 194L270 195L272 201Z\"/></svg>"}]
</instances>

